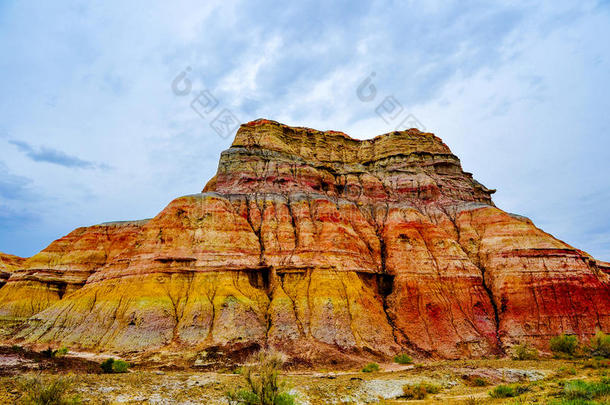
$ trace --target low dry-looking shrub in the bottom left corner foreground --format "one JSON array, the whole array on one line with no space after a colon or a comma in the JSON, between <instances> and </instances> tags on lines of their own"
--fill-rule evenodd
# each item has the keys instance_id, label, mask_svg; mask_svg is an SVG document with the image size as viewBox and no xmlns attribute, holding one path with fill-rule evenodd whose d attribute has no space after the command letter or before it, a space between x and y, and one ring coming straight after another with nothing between
<instances>
[{"instance_id":1,"label":"low dry-looking shrub in the bottom left corner foreground","mask_svg":"<svg viewBox=\"0 0 610 405\"><path fill-rule=\"evenodd\" d=\"M67 395L71 384L72 380L68 378L53 377L43 380L40 377L32 377L21 380L18 387L22 391L22 402L28 405L80 404L78 397Z\"/></svg>"}]
</instances>

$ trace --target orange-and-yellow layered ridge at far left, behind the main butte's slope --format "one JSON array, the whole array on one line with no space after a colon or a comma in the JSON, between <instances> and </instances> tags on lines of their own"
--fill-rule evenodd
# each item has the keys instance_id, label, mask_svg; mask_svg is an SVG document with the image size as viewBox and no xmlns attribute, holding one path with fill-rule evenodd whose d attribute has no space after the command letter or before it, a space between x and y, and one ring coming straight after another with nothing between
<instances>
[{"instance_id":1,"label":"orange-and-yellow layered ridge at far left, behind the main butte's slope","mask_svg":"<svg viewBox=\"0 0 610 405\"><path fill-rule=\"evenodd\" d=\"M22 260L0 289L0 316L29 317L79 289L92 273L132 246L145 223L109 222L78 228Z\"/></svg>"}]
</instances>

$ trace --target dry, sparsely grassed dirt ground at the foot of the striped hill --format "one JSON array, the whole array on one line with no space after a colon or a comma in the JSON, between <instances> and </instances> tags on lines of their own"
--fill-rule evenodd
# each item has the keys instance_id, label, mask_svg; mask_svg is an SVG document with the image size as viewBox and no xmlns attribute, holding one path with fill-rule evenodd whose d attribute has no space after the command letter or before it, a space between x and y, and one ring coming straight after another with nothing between
<instances>
[{"instance_id":1,"label":"dry, sparsely grassed dirt ground at the foot of the striped hill","mask_svg":"<svg viewBox=\"0 0 610 405\"><path fill-rule=\"evenodd\" d=\"M55 359L0 349L0 403L19 403L23 398L20 381L32 376L52 380L65 375L71 381L69 394L91 404L228 404L225 393L244 386L243 377L231 371L135 367L125 374L101 374L95 360L82 354ZM607 375L610 369L592 368L586 360L489 359L380 364L380 371L372 373L288 371L282 381L297 404L545 404L557 400L567 380L599 380ZM404 398L403 386L419 382L433 383L440 392L423 400ZM493 399L489 392L498 384L526 387L526 392L516 398Z\"/></svg>"}]
</instances>

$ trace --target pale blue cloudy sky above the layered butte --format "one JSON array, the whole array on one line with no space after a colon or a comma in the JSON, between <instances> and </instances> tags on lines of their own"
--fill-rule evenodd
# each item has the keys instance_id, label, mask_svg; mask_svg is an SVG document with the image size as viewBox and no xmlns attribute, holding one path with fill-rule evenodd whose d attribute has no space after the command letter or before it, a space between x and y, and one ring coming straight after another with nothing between
<instances>
[{"instance_id":1,"label":"pale blue cloudy sky above the layered butte","mask_svg":"<svg viewBox=\"0 0 610 405\"><path fill-rule=\"evenodd\" d=\"M2 0L0 251L155 216L264 117L434 132L498 207L610 261L608 38L607 1Z\"/></svg>"}]
</instances>

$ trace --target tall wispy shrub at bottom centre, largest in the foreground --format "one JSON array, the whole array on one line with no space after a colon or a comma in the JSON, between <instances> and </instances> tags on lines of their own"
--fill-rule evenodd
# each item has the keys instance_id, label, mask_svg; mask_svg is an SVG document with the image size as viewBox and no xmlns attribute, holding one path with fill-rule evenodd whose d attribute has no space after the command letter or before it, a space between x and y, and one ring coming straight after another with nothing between
<instances>
[{"instance_id":1,"label":"tall wispy shrub at bottom centre, largest in the foreground","mask_svg":"<svg viewBox=\"0 0 610 405\"><path fill-rule=\"evenodd\" d=\"M247 389L227 392L229 405L294 405L294 397L283 391L279 371L284 359L279 353L260 351L251 360L252 366L242 367Z\"/></svg>"}]
</instances>

